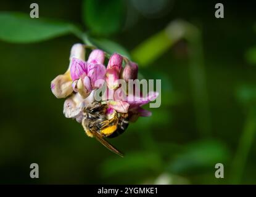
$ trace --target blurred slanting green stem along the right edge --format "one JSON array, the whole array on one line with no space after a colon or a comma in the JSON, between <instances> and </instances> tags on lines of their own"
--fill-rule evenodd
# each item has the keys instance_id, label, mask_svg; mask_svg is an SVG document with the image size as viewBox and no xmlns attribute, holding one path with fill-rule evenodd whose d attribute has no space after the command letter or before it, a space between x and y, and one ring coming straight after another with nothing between
<instances>
[{"instance_id":1,"label":"blurred slanting green stem along the right edge","mask_svg":"<svg viewBox=\"0 0 256 197\"><path fill-rule=\"evenodd\" d=\"M256 131L256 115L254 108L251 108L248 115L244 130L239 140L236 155L231 166L230 182L233 184L239 184L242 179L244 168L246 167L247 157L249 155L250 148L254 142L254 135Z\"/></svg>"}]
</instances>

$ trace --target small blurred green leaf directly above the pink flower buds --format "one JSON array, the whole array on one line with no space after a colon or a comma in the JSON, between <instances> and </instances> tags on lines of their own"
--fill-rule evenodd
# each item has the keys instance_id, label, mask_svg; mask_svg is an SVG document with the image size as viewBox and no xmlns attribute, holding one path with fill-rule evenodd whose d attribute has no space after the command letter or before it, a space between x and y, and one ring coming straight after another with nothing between
<instances>
[{"instance_id":1,"label":"small blurred green leaf directly above the pink flower buds","mask_svg":"<svg viewBox=\"0 0 256 197\"><path fill-rule=\"evenodd\" d=\"M117 42L110 41L109 39L90 39L93 44L95 44L99 49L104 50L105 52L109 54L114 54L114 52L117 52L120 55L124 55L128 58L130 58L129 52L120 44L117 44Z\"/></svg>"}]
</instances>

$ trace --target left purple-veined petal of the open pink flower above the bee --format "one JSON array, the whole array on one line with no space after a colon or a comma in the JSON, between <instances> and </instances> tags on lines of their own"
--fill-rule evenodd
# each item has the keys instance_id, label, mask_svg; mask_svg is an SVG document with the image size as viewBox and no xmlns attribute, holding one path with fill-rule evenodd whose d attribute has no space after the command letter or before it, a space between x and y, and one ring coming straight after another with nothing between
<instances>
[{"instance_id":1,"label":"left purple-veined petal of the open pink flower above the bee","mask_svg":"<svg viewBox=\"0 0 256 197\"><path fill-rule=\"evenodd\" d=\"M80 78L83 74L86 74L86 62L78 58L72 58L70 66L70 75L72 80Z\"/></svg>"}]
</instances>

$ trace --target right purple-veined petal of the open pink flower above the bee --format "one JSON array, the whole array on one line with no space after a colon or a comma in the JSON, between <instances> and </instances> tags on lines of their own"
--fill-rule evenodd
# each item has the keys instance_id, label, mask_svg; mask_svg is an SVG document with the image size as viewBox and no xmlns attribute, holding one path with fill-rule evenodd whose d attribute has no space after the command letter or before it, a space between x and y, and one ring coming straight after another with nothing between
<instances>
[{"instance_id":1,"label":"right purple-veined petal of the open pink flower above the bee","mask_svg":"<svg viewBox=\"0 0 256 197\"><path fill-rule=\"evenodd\" d=\"M88 63L87 76L91 79L91 84L95 88L96 84L100 84L97 80L105 78L105 66L102 64Z\"/></svg>"}]
</instances>

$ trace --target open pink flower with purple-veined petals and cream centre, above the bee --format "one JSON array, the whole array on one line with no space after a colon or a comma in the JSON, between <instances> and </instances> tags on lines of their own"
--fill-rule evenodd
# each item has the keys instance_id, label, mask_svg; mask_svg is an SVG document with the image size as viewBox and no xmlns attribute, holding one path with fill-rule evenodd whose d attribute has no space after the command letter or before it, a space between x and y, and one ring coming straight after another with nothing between
<instances>
[{"instance_id":1,"label":"open pink flower with purple-veined petals and cream centre, above the bee","mask_svg":"<svg viewBox=\"0 0 256 197\"><path fill-rule=\"evenodd\" d=\"M99 88L98 79L105 78L104 52L95 49L91 52L88 62L73 57L70 74L73 80L73 90L87 97L93 89ZM78 79L78 81L76 81Z\"/></svg>"}]
</instances>

